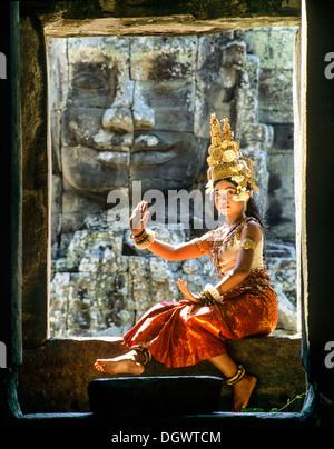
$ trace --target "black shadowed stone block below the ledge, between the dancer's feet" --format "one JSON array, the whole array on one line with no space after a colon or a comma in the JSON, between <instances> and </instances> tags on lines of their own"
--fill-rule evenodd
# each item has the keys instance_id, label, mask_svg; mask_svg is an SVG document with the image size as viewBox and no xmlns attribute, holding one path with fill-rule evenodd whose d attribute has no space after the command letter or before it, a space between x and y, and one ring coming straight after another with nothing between
<instances>
[{"instance_id":1,"label":"black shadowed stone block below the ledge, between the dancer's feet","mask_svg":"<svg viewBox=\"0 0 334 449\"><path fill-rule=\"evenodd\" d=\"M218 407L222 383L214 376L121 377L94 380L88 395L99 415L207 413Z\"/></svg>"}]
</instances>

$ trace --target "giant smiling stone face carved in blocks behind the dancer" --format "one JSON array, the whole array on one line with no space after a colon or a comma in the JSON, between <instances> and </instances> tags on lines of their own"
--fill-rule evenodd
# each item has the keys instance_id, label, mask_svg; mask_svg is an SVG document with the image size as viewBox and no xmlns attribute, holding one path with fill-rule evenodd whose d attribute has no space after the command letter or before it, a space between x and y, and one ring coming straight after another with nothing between
<instances>
[{"instance_id":1,"label":"giant smiling stone face carved in blocks behind the dancer","mask_svg":"<svg viewBox=\"0 0 334 449\"><path fill-rule=\"evenodd\" d=\"M97 40L98 39L98 40ZM69 39L61 160L69 186L106 196L187 188L207 140L194 136L195 38Z\"/></svg>"}]
</instances>

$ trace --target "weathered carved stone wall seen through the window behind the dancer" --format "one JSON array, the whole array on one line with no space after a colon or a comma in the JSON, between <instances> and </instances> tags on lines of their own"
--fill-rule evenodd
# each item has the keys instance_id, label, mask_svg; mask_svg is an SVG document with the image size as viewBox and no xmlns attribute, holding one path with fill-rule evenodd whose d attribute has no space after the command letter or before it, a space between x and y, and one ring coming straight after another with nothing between
<instances>
[{"instance_id":1,"label":"weathered carved stone wall seen through the window behind the dancer","mask_svg":"<svg viewBox=\"0 0 334 449\"><path fill-rule=\"evenodd\" d=\"M262 214L274 209L277 198L292 210L288 189L293 172L285 169L283 174L282 170L292 149L282 147L281 132L282 123L291 129L292 104L286 101L281 107L275 96L277 89L292 94L294 32L254 29L173 39L49 41L51 336L121 336L154 303L180 299L179 277L194 291L216 281L208 257L167 262L148 251L139 252L125 226L107 221L106 201L112 189L122 189L131 199L136 179L143 181L143 193L149 189L166 193L171 188L203 191L212 111L230 119L243 152L255 160ZM288 51L282 61L277 52L285 34ZM273 104L278 104L277 110ZM176 157L164 162L155 139L171 142ZM143 170L147 154L154 166ZM284 191L291 197L278 197L276 189L272 198L275 177L288 179ZM295 331L294 223L288 223L289 241L284 241L287 233L282 231L282 213L279 217L281 221L268 217L273 231L266 256L271 276L278 283L278 327ZM160 223L155 228L164 241L175 243L194 232L183 226L165 228Z\"/></svg>"}]
</instances>

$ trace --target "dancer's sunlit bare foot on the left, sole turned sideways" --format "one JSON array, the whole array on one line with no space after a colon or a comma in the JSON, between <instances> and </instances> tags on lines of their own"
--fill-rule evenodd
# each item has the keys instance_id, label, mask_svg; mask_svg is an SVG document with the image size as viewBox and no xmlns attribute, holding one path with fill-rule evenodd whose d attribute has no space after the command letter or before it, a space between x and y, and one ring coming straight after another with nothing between
<instances>
[{"instance_id":1,"label":"dancer's sunlit bare foot on the left, sole turned sideways","mask_svg":"<svg viewBox=\"0 0 334 449\"><path fill-rule=\"evenodd\" d=\"M140 376L145 370L143 361L143 355L132 350L112 359L97 359L95 368L98 371L107 372L108 375Z\"/></svg>"}]
</instances>

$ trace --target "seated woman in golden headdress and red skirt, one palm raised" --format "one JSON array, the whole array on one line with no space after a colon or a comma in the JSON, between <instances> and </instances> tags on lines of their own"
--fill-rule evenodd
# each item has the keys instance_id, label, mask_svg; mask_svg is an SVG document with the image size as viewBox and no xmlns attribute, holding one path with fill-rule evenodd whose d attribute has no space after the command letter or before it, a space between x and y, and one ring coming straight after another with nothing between
<instances>
[{"instance_id":1,"label":"seated woman in golden headdress and red skirt, one palm raised","mask_svg":"<svg viewBox=\"0 0 334 449\"><path fill-rule=\"evenodd\" d=\"M185 260L210 253L219 281L199 295L179 279L185 299L154 306L124 336L126 355L97 359L98 370L110 375L141 375L154 357L166 367L186 367L209 360L233 388L232 411L247 407L256 377L230 358L225 341L269 335L277 323L277 300L263 260L263 229L252 198L257 189L253 162L233 141L227 119L223 131L212 116L212 146L207 158L208 187L215 207L227 225L178 246L155 239L145 229L149 212L141 201L130 218L138 248L148 248L166 260Z\"/></svg>"}]
</instances>

